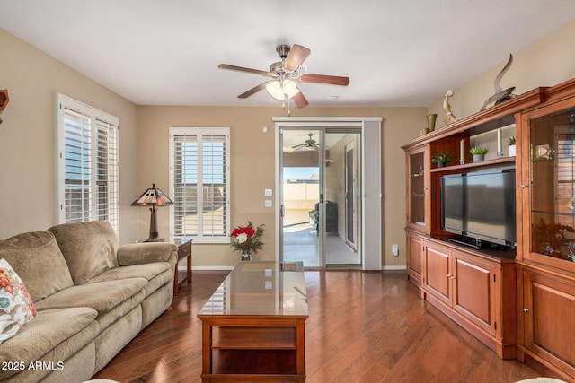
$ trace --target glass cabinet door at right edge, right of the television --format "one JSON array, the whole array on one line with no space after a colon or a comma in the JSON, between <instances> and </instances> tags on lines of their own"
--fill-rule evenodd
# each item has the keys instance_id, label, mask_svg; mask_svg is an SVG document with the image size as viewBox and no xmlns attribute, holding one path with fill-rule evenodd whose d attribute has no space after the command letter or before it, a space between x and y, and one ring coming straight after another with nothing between
<instances>
[{"instance_id":1,"label":"glass cabinet door at right edge, right of the television","mask_svg":"<svg viewBox=\"0 0 575 383\"><path fill-rule=\"evenodd\" d=\"M575 262L575 108L531 119L529 143L530 251Z\"/></svg>"}]
</instances>

